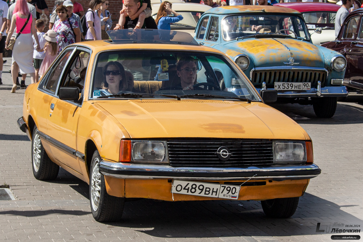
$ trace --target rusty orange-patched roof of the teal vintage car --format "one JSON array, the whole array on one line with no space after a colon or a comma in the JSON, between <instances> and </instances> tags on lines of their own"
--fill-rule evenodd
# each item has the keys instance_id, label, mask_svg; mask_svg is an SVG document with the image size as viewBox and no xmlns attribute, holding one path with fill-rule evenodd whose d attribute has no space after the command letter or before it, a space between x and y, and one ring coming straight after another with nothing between
<instances>
[{"instance_id":1,"label":"rusty orange-patched roof of the teal vintage car","mask_svg":"<svg viewBox=\"0 0 363 242\"><path fill-rule=\"evenodd\" d=\"M264 10L264 11L262 11ZM252 12L256 11L256 12ZM300 12L289 9L289 8L282 8L282 7L275 7L275 6L259 6L259 5L236 5L236 6L224 6L224 7L218 7L218 8L212 8L206 11L205 13L213 13L213 14L220 14L220 15L226 15L226 14L233 14L233 13L289 13L289 14L301 14Z\"/></svg>"}]
</instances>

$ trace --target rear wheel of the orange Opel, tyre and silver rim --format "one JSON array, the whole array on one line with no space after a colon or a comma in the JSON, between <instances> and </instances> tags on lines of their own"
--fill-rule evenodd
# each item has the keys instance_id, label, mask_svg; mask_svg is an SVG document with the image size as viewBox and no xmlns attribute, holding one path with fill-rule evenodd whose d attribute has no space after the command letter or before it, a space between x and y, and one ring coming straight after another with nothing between
<instances>
[{"instance_id":1,"label":"rear wheel of the orange Opel, tyre and silver rim","mask_svg":"<svg viewBox=\"0 0 363 242\"><path fill-rule=\"evenodd\" d=\"M33 175L37 180L54 180L58 176L59 165L49 159L43 148L37 126L34 126L32 135L32 167Z\"/></svg>"}]
</instances>

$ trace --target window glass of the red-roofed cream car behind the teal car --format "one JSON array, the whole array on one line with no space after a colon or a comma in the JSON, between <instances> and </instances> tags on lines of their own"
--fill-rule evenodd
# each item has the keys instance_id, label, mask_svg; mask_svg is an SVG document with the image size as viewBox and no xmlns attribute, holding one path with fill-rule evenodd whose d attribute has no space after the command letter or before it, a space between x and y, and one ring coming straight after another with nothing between
<instances>
[{"instance_id":1,"label":"window glass of the red-roofed cream car behind the teal car","mask_svg":"<svg viewBox=\"0 0 363 242\"><path fill-rule=\"evenodd\" d=\"M335 28L335 15L337 12L311 12L303 13L306 26L309 30L315 28L334 29Z\"/></svg>"}]
</instances>

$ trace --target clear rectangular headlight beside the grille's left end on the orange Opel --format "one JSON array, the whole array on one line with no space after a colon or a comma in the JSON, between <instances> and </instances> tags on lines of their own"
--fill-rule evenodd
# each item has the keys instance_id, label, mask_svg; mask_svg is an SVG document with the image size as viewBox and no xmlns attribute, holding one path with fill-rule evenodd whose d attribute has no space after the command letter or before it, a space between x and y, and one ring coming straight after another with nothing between
<instances>
[{"instance_id":1,"label":"clear rectangular headlight beside the grille's left end on the orange Opel","mask_svg":"<svg viewBox=\"0 0 363 242\"><path fill-rule=\"evenodd\" d=\"M168 164L166 141L132 140L131 161L135 163Z\"/></svg>"}]
</instances>

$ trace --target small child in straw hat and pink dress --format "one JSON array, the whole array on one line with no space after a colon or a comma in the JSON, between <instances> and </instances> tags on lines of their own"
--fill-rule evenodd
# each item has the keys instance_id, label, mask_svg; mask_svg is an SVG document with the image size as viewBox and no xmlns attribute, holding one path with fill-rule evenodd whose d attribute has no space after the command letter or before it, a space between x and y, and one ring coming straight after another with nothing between
<instances>
[{"instance_id":1,"label":"small child in straw hat and pink dress","mask_svg":"<svg viewBox=\"0 0 363 242\"><path fill-rule=\"evenodd\" d=\"M41 51L45 52L44 60L40 66L39 75L43 75L46 72L46 70L48 70L50 64L52 64L54 59L57 57L59 46L57 44L56 36L57 33L52 29L49 29L48 32L44 34L44 38L45 40L47 40L47 42L44 44L43 49L38 50L40 52Z\"/></svg>"}]
</instances>

